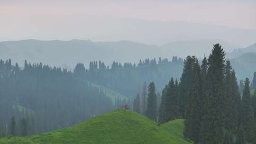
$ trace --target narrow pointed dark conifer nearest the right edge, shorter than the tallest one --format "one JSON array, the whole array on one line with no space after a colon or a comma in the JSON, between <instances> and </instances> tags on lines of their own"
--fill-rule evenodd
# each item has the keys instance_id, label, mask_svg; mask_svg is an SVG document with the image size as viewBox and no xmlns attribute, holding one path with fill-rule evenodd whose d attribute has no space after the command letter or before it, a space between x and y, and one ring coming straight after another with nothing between
<instances>
[{"instance_id":1,"label":"narrow pointed dark conifer nearest the right edge, shorter than the tallest one","mask_svg":"<svg viewBox=\"0 0 256 144\"><path fill-rule=\"evenodd\" d=\"M252 142L254 140L254 113L251 106L251 94L250 94L250 82L249 79L245 80L245 89L243 91L243 111L242 111L242 124L245 130L245 140Z\"/></svg>"}]
</instances>

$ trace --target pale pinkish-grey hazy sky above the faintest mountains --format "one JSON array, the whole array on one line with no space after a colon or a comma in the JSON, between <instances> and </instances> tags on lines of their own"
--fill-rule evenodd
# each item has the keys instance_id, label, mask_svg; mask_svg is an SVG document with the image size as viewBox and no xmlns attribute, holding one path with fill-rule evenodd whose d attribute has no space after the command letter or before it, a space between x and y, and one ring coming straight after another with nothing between
<instances>
[{"instance_id":1,"label":"pale pinkish-grey hazy sky above the faintest mountains","mask_svg":"<svg viewBox=\"0 0 256 144\"><path fill-rule=\"evenodd\" d=\"M90 39L94 36L91 32L84 37L76 35L81 27L76 23L81 17L94 16L181 21L256 30L256 0L0 0L0 41L42 37ZM64 22L69 27L61 29ZM91 24L94 25L93 22ZM108 24L111 25L106 20ZM51 37L49 33L54 29L68 31L70 36L63 36L60 32Z\"/></svg>"}]
</instances>

